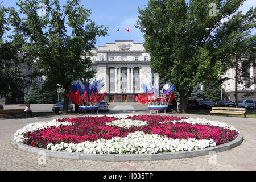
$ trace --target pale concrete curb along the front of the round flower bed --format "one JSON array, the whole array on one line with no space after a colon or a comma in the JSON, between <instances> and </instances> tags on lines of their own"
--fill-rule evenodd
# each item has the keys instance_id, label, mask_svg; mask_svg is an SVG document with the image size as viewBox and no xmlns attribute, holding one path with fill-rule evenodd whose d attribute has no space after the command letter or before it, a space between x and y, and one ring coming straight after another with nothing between
<instances>
[{"instance_id":1,"label":"pale concrete curb along the front of the round flower bed","mask_svg":"<svg viewBox=\"0 0 256 182\"><path fill-rule=\"evenodd\" d=\"M121 161L151 161L151 160L168 160L168 159L181 159L193 158L196 156L212 155L216 152L230 150L239 146L243 141L243 136L238 135L236 140L222 144L217 147L209 147L203 150L182 151L182 152L166 152L158 154L84 154L84 153L69 153L65 151L51 151L43 148L31 147L23 143L18 143L11 139L11 144L14 148L25 152L36 153L39 156L44 155L52 158L61 159L74 159L74 160L95 160L95 161L108 161L108 162L121 162Z\"/></svg>"}]
</instances>

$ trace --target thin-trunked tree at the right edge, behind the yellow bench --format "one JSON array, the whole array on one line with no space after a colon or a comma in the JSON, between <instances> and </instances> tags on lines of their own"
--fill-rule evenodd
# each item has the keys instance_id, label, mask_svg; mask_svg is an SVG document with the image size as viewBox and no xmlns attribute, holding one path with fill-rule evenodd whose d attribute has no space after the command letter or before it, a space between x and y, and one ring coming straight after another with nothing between
<instances>
[{"instance_id":1,"label":"thin-trunked tree at the right edge, behind the yellow bench","mask_svg":"<svg viewBox=\"0 0 256 182\"><path fill-rule=\"evenodd\" d=\"M249 68L256 66L255 49L256 49L256 35L251 35L251 31L255 28L256 9L247 11L245 15L241 12L233 15L232 18L225 22L225 27L232 27L233 32L222 39L220 47L230 52L229 54L229 68L235 69L235 100L238 107L238 83L247 81L246 85L255 84L255 77L250 77ZM226 30L222 30L226 31ZM242 57L246 57L242 60Z\"/></svg>"}]
</instances>

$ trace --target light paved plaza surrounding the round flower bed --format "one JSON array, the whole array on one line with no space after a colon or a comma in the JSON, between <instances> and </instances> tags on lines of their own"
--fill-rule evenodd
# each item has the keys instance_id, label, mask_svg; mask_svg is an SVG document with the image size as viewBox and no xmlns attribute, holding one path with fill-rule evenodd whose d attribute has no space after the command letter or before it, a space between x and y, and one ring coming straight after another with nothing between
<instances>
[{"instance_id":1,"label":"light paved plaza surrounding the round flower bed","mask_svg":"<svg viewBox=\"0 0 256 182\"><path fill-rule=\"evenodd\" d=\"M124 107L123 107L124 108ZM123 109L123 110L129 110ZM183 116L183 114L176 114ZM243 143L230 151L195 158L159 160L152 162L94 162L56 159L19 151L10 144L16 130L28 123L49 121L54 117L0 119L0 170L256 170L256 119L185 115L207 118L233 125L243 135ZM68 117L68 116L67 116ZM71 116L73 117L73 116ZM45 162L45 163L44 163Z\"/></svg>"}]
</instances>

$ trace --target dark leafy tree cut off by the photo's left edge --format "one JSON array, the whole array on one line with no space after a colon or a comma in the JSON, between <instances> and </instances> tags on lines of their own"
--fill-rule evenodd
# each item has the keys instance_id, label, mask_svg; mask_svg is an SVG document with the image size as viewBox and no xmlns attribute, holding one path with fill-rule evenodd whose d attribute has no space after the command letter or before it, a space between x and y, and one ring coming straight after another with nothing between
<instances>
[{"instance_id":1,"label":"dark leafy tree cut off by the photo's left edge","mask_svg":"<svg viewBox=\"0 0 256 182\"><path fill-rule=\"evenodd\" d=\"M0 98L20 97L23 95L23 80L18 66L22 57L18 56L18 50L23 43L20 36L8 36L5 40L6 31L9 31L6 13L8 9L0 2Z\"/></svg>"}]
</instances>

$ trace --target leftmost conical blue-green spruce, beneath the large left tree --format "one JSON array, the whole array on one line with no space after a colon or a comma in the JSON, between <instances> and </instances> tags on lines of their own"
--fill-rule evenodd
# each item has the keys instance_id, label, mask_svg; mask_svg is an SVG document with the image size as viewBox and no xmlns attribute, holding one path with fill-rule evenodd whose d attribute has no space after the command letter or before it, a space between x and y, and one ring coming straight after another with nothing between
<instances>
[{"instance_id":1,"label":"leftmost conical blue-green spruce, beneath the large left tree","mask_svg":"<svg viewBox=\"0 0 256 182\"><path fill-rule=\"evenodd\" d=\"M30 89L25 97L26 103L29 104L42 104L43 103L43 94L41 86L38 85L36 80L32 81Z\"/></svg>"}]
</instances>

